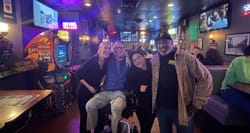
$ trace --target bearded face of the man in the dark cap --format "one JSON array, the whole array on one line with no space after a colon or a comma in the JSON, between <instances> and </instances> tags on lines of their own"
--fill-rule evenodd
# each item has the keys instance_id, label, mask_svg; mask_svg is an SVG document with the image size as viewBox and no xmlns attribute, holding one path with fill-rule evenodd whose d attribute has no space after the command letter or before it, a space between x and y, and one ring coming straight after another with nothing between
<instances>
[{"instance_id":1,"label":"bearded face of the man in the dark cap","mask_svg":"<svg viewBox=\"0 0 250 133\"><path fill-rule=\"evenodd\" d=\"M173 48L173 41L170 39L159 40L156 46L160 55L167 55Z\"/></svg>"}]
</instances>

